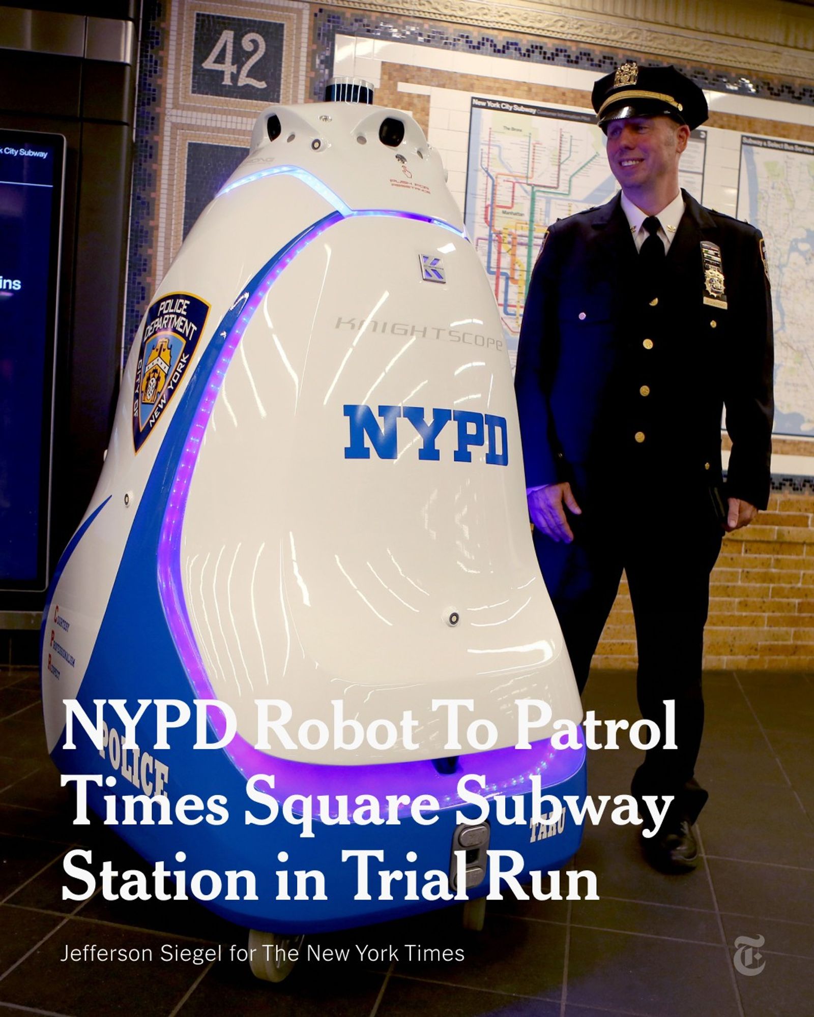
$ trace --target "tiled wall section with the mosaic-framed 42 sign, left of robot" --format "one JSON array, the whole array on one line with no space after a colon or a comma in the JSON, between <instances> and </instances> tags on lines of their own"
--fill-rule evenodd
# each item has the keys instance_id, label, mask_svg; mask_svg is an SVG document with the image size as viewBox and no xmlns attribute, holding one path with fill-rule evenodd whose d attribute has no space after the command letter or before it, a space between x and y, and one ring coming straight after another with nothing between
<instances>
[{"instance_id":1,"label":"tiled wall section with the mosaic-framed 42 sign, left of robot","mask_svg":"<svg viewBox=\"0 0 814 1017\"><path fill-rule=\"evenodd\" d=\"M306 96L309 6L158 0L139 61L125 355L158 282L248 152L257 114Z\"/></svg>"}]
</instances>

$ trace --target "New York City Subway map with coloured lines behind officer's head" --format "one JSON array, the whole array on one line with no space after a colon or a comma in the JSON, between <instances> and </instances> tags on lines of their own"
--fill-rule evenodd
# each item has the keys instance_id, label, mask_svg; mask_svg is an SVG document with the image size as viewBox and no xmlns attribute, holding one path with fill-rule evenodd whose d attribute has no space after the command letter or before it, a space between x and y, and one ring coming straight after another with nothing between
<instances>
[{"instance_id":1,"label":"New York City Subway map with coloured lines behind officer's head","mask_svg":"<svg viewBox=\"0 0 814 1017\"><path fill-rule=\"evenodd\" d=\"M682 159L683 187L699 200L705 131ZM466 228L495 288L514 364L531 268L550 223L617 191L593 114L473 97Z\"/></svg>"}]
</instances>

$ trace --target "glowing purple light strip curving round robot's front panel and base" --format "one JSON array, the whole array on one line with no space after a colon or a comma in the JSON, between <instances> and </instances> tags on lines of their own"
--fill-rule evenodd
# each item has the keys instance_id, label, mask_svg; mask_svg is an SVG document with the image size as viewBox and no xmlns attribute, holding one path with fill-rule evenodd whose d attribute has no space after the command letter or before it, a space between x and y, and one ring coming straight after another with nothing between
<instances>
[{"instance_id":1,"label":"glowing purple light strip curving round robot's front panel and base","mask_svg":"<svg viewBox=\"0 0 814 1017\"><path fill-rule=\"evenodd\" d=\"M369 211L354 215L394 216L401 219L446 225L438 220L414 213ZM240 344L246 326L269 290L301 250L326 230L347 218L350 217L336 213L322 220L290 247L284 249L279 257L273 260L245 304L237 310L235 320L228 330L204 396L195 410L175 471L159 537L159 594L170 634L197 699L207 700L217 697L192 633L183 596L180 551L189 486L204 434L232 357ZM450 227L450 229L453 228ZM223 737L225 721L221 715L217 714L217 716L211 717L210 722L218 737ZM459 767L455 773L440 774L429 760L363 766L325 766L293 762L260 752L240 734L235 734L225 751L244 777L273 770L276 783L275 792L281 797L295 793L315 794L318 792L329 795L347 793L349 779L352 775L352 786L356 792L363 790L364 793L374 794L383 801L389 794L407 794L411 798L418 793L434 794L442 803L442 807L445 809L456 807L461 803L457 792L457 783L461 774L487 771L485 774L487 784L482 792L487 797L504 792L522 794L530 790L529 780L532 774L541 776L543 787L560 784L580 769L585 756L584 749L554 750L546 740L538 742L527 755L518 755L519 750L510 746L487 753L461 756ZM408 809L409 806L404 811L406 812Z\"/></svg>"}]
</instances>

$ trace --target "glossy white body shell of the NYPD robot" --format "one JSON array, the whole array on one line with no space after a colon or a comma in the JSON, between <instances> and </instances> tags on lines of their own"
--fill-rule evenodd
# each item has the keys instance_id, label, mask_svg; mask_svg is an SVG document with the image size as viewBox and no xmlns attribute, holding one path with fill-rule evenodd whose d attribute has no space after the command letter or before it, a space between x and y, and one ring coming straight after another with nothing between
<instances>
[{"instance_id":1,"label":"glossy white body shell of the NYPD robot","mask_svg":"<svg viewBox=\"0 0 814 1017\"><path fill-rule=\"evenodd\" d=\"M283 125L274 141L272 117ZM379 131L397 118L406 129L394 148ZM398 111L273 109L154 301L194 295L210 310L180 392L137 455L133 346L94 505L110 493L115 508L125 490L137 503L194 360L270 253L300 238L253 306L242 298L247 320L213 376L185 480L176 594L212 693L241 718L258 696L289 700L300 719L337 697L362 722L411 706L427 752L444 755L432 698L474 699L500 744L513 742L516 698L580 717L531 548L500 318L462 229L437 153ZM386 407L398 417L386 420ZM354 441L365 458L349 457ZM106 535L114 560L132 505L119 516ZM98 569L93 543L63 583L83 553ZM327 750L314 761L336 760Z\"/></svg>"}]
</instances>

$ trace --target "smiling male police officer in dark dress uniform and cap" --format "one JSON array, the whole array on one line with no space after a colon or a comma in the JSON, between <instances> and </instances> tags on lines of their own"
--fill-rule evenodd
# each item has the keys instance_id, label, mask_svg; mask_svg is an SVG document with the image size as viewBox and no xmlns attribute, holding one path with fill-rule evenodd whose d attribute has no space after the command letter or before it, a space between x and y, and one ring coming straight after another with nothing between
<instances>
[{"instance_id":1,"label":"smiling male police officer in dark dress uniform and cap","mask_svg":"<svg viewBox=\"0 0 814 1017\"><path fill-rule=\"evenodd\" d=\"M639 709L662 732L633 793L675 796L643 845L686 872L707 798L694 771L709 574L722 533L768 499L771 302L759 231L679 187L701 89L626 63L592 102L622 192L551 226L531 278L516 371L528 505L580 691L627 574ZM677 749L662 747L671 700Z\"/></svg>"}]
</instances>

